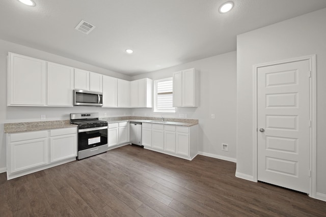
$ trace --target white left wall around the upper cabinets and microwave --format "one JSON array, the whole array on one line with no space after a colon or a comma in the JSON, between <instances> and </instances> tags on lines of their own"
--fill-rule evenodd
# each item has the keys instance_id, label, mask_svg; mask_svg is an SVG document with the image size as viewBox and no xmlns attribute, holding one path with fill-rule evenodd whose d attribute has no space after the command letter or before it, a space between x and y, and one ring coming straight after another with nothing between
<instances>
[{"instance_id":1,"label":"white left wall around the upper cabinets and microwave","mask_svg":"<svg viewBox=\"0 0 326 217\"><path fill-rule=\"evenodd\" d=\"M92 106L75 107L15 107L7 106L7 55L8 52L18 53L39 59L52 61L79 69L85 69L92 72L130 80L130 76L105 70L95 66L81 63L76 60L68 59L55 54L43 52L37 49L21 46L11 42L0 40L0 172L6 168L6 140L4 134L4 123L41 121L40 115L45 114L46 120L68 120L70 113L75 112L99 112L100 116L122 116L130 115L130 109L100 108Z\"/></svg>"}]
</instances>

